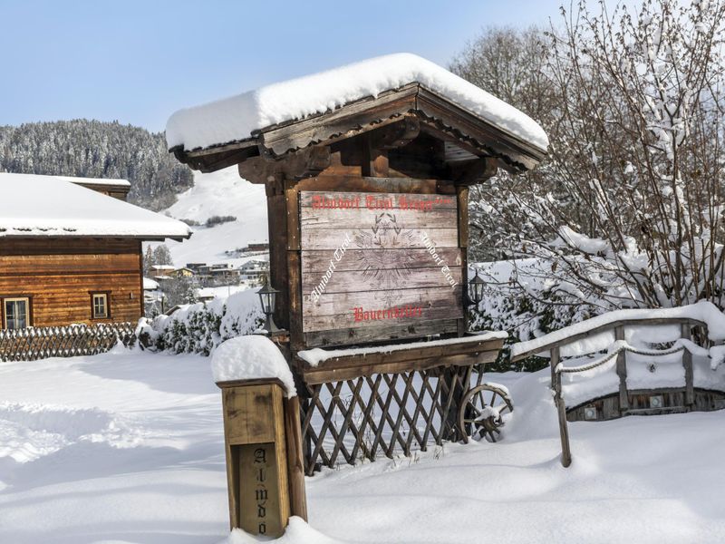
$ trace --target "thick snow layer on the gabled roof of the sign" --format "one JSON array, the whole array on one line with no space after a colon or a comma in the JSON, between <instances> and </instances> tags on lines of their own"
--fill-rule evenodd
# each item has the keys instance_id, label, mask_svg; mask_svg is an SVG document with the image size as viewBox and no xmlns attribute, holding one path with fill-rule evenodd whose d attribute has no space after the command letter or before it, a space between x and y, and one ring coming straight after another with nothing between
<instances>
[{"instance_id":1,"label":"thick snow layer on the gabled roof of the sign","mask_svg":"<svg viewBox=\"0 0 725 544\"><path fill-rule=\"evenodd\" d=\"M324 113L409 83L437 92L502 131L546 152L546 132L525 113L438 64L411 53L389 54L175 112L166 126L169 149L208 148L247 140L252 132Z\"/></svg>"}]
</instances>

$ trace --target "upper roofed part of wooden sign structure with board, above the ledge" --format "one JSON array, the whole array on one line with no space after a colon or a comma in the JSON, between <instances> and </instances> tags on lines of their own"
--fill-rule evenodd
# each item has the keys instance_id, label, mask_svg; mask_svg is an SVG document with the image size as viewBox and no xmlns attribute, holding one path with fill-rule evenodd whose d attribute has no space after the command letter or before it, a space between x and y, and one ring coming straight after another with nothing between
<instances>
[{"instance_id":1,"label":"upper roofed part of wooden sign structure with board, above the ledge","mask_svg":"<svg viewBox=\"0 0 725 544\"><path fill-rule=\"evenodd\" d=\"M274 317L291 355L465 335L469 186L546 155L420 83L172 151L266 186Z\"/></svg>"}]
</instances>

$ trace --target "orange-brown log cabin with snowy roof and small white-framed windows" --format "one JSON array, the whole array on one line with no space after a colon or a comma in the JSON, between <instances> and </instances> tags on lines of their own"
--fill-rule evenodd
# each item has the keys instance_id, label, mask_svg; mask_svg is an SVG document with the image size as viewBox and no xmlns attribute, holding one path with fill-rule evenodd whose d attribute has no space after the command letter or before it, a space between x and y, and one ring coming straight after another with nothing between
<instances>
[{"instance_id":1,"label":"orange-brown log cabin with snowy roof and small white-framed windows","mask_svg":"<svg viewBox=\"0 0 725 544\"><path fill-rule=\"evenodd\" d=\"M135 322L142 241L187 225L125 202L126 180L0 173L0 328Z\"/></svg>"}]
</instances>

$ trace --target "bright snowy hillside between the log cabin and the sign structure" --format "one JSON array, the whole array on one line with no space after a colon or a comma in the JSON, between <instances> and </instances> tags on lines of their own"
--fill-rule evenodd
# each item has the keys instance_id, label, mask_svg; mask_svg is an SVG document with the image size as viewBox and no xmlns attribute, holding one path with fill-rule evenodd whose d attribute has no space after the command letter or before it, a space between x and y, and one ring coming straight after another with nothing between
<instances>
[{"instance_id":1,"label":"bright snowy hillside between the log cabin and the sign structure","mask_svg":"<svg viewBox=\"0 0 725 544\"><path fill-rule=\"evenodd\" d=\"M183 243L167 241L177 267L194 262L240 264L248 259L226 255L225 251L268 238L265 188L242 180L237 167L210 174L195 172L194 187L181 193L179 200L164 213L202 224L213 216L237 218L216 227L193 227L194 234Z\"/></svg>"}]
</instances>

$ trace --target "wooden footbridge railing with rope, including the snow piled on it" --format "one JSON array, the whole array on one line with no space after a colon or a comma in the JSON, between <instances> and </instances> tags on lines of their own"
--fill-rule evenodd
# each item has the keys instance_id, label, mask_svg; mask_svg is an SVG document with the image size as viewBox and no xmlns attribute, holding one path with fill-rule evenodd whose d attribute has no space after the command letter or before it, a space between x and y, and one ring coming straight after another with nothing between
<instances>
[{"instance_id":1,"label":"wooden footbridge railing with rope, including the snow piled on it","mask_svg":"<svg viewBox=\"0 0 725 544\"><path fill-rule=\"evenodd\" d=\"M668 330L675 326L679 338L662 337L652 327ZM664 349L646 349L630 345L626 338L638 338L640 344L667 344L671 346ZM650 329L647 331L647 329ZM709 347L696 345L691 341L692 331L696 331L703 344L712 343ZM667 335L666 335L667 336ZM709 362L707 365L714 373L722 363L725 348L722 342L725 339L725 316L720 309L710 302L701 301L690 306L661 309L630 309L609 312L603 316L588 319L576 325L564 327L558 331L539 338L521 342L511 348L511 361L516 362L530 355L548 352L551 368L551 388L554 403L559 418L559 431L562 443L562 464L567 467L571 463L571 448L569 445L569 432L567 421L576 421L582 415L585 419L612 419L623 415L652 414L671 412L690 412L693 410L719 409L722 396L721 375L708 381L707 389L698 389L694 380L693 355ZM613 344L602 345L614 340ZM585 361L585 364L565 365L562 356L591 355L606 349L607 354L596 360ZM644 357L666 357L681 353L681 370L684 378L683 386L679 384L656 384L655 380L644 387L632 389L628 386L627 354ZM585 403L589 403L589 414L586 416L582 409L585 403L581 398L577 405L567 406L564 398L562 374L575 375L587 373L595 368L604 366L616 360L616 376L618 391L610 393L602 390L588 391ZM651 373L656 370L656 364L651 364ZM718 384L720 382L720 384ZM581 386L582 384L578 384ZM710 391L715 385L720 393ZM654 394L656 393L656 394ZM607 394L612 395L611 402L604 402ZM657 403L652 403L652 398ZM643 402L649 401L648 407ZM597 405L597 403L599 405ZM582 412L581 414L579 412Z\"/></svg>"}]
</instances>

